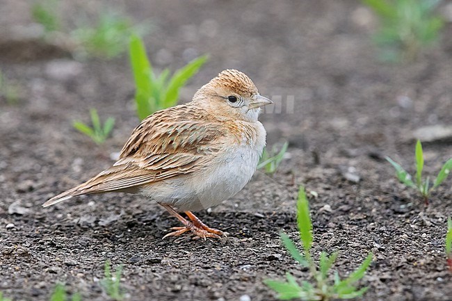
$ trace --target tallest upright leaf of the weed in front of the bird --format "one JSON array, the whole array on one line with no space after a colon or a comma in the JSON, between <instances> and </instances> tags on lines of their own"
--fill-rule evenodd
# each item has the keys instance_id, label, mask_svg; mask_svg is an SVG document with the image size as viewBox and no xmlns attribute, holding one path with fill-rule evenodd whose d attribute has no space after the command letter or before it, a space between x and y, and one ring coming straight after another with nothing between
<instances>
[{"instance_id":1,"label":"tallest upright leaf of the weed in front of the bird","mask_svg":"<svg viewBox=\"0 0 452 301\"><path fill-rule=\"evenodd\" d=\"M298 230L300 231L303 249L305 254L309 254L312 245L312 222L309 215L309 202L307 201L305 188L302 186L298 190L297 212Z\"/></svg>"}]
</instances>

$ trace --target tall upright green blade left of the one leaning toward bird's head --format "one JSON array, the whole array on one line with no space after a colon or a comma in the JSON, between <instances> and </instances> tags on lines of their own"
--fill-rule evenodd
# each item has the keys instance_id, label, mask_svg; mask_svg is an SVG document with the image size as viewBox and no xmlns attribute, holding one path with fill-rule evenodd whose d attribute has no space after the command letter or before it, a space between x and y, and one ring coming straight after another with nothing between
<instances>
[{"instance_id":1,"label":"tall upright green blade left of the one leaning toward bird's head","mask_svg":"<svg viewBox=\"0 0 452 301\"><path fill-rule=\"evenodd\" d=\"M150 107L150 97L152 95L150 74L152 74L152 65L147 58L143 40L136 34L131 35L130 38L129 58L132 73L134 74L137 114L140 120L143 120L153 113Z\"/></svg>"}]
</instances>

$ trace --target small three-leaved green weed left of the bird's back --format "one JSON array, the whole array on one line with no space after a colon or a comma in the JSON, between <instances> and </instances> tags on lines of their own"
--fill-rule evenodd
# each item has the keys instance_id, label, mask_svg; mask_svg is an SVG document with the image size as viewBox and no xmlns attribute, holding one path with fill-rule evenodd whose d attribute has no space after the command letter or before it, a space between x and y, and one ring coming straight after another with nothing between
<instances>
[{"instance_id":1,"label":"small three-leaved green weed left of the bird's back","mask_svg":"<svg viewBox=\"0 0 452 301\"><path fill-rule=\"evenodd\" d=\"M113 127L115 125L115 118L108 117L104 125L100 121L99 115L95 108L90 109L92 127L84 124L80 121L74 121L73 126L75 129L84 133L86 136L90 137L95 143L101 145L105 142L106 138L110 135Z\"/></svg>"}]
</instances>

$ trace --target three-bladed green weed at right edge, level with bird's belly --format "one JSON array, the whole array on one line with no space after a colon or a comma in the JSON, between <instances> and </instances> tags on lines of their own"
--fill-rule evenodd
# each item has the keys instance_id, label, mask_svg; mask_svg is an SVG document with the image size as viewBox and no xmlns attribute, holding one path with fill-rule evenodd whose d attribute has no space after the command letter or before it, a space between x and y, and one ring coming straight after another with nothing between
<instances>
[{"instance_id":1,"label":"three-bladed green weed at right edge, level with bird's belly","mask_svg":"<svg viewBox=\"0 0 452 301\"><path fill-rule=\"evenodd\" d=\"M417 140L416 143L415 157L416 157L415 181L412 180L411 175L408 172L406 172L400 164L394 162L388 156L386 157L386 160L389 161L389 163L391 163L392 166L394 166L394 169L396 170L396 176L399 179L399 181L401 181L407 187L415 188L421 194L426 204L428 204L428 198L430 197L431 191L437 188L437 186L439 186L440 184L442 184L442 182L447 178L447 176L451 172L452 158L450 158L448 161L446 161L446 163L444 163L435 179L435 182L433 183L433 186L430 187L430 177L427 177L425 180L422 179L423 151L420 140Z\"/></svg>"}]
</instances>

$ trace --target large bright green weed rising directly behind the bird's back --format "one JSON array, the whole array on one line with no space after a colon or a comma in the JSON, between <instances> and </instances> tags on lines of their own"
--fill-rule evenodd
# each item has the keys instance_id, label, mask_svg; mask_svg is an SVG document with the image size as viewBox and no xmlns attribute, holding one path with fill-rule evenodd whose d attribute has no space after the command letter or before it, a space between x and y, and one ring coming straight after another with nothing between
<instances>
[{"instance_id":1,"label":"large bright green weed rising directly behind the bird's back","mask_svg":"<svg viewBox=\"0 0 452 301\"><path fill-rule=\"evenodd\" d=\"M207 56L200 56L171 77L168 68L157 76L147 58L143 40L138 35L131 35L129 55L136 87L136 111L140 120L163 108L175 106L179 100L179 90L207 61Z\"/></svg>"}]
</instances>

